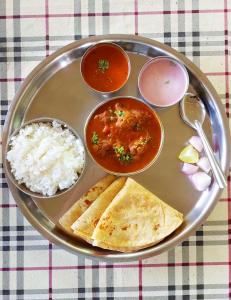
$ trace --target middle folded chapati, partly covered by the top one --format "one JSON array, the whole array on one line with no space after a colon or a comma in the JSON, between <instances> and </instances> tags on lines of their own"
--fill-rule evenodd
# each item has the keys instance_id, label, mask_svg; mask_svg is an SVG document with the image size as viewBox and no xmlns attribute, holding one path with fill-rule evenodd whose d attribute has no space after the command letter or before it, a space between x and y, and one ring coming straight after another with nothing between
<instances>
[{"instance_id":1,"label":"middle folded chapati, partly covered by the top one","mask_svg":"<svg viewBox=\"0 0 231 300\"><path fill-rule=\"evenodd\" d=\"M124 186L126 177L112 182L71 226L74 234L92 243L92 234L105 209Z\"/></svg>"}]
</instances>

